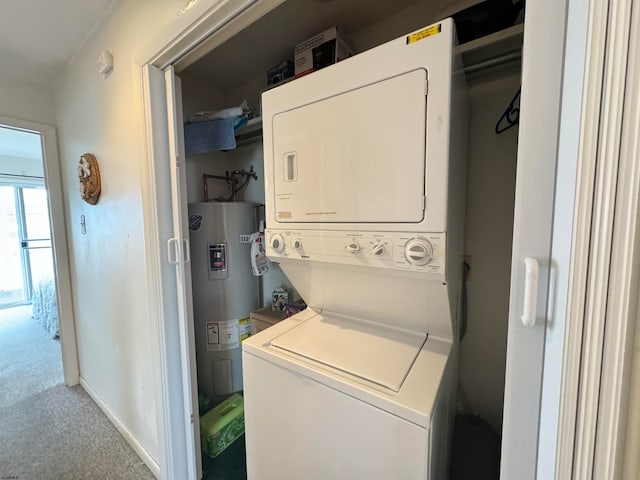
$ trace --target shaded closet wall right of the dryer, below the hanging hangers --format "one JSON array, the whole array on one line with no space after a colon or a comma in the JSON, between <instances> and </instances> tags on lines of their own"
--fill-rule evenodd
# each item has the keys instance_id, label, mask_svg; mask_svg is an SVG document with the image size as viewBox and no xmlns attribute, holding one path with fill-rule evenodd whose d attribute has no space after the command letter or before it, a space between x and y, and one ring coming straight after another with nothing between
<instances>
[{"instance_id":1,"label":"shaded closet wall right of the dryer, below the hanging hangers","mask_svg":"<svg viewBox=\"0 0 640 480\"><path fill-rule=\"evenodd\" d=\"M518 127L499 135L494 128L519 86L519 74L469 85L465 254L471 256L471 271L459 379L471 413L498 432L502 429Z\"/></svg>"}]
</instances>

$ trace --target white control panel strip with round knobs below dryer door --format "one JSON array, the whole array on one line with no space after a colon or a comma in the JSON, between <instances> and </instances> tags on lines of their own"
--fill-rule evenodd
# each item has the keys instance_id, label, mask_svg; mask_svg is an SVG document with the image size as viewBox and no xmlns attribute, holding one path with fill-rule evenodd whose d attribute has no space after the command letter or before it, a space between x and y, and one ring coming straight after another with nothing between
<instances>
[{"instance_id":1,"label":"white control panel strip with round knobs below dryer door","mask_svg":"<svg viewBox=\"0 0 640 480\"><path fill-rule=\"evenodd\" d=\"M266 230L267 255L396 270L445 273L446 235Z\"/></svg>"}]
</instances>

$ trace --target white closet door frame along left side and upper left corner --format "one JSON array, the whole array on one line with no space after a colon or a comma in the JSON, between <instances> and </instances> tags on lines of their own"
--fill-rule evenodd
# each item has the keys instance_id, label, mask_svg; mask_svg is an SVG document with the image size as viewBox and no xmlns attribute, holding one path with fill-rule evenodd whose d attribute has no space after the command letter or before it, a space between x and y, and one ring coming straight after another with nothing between
<instances>
[{"instance_id":1,"label":"white closet door frame along left side and upper left corner","mask_svg":"<svg viewBox=\"0 0 640 480\"><path fill-rule=\"evenodd\" d=\"M147 277L152 286L149 293L149 311L154 312L158 319L156 338L158 345L158 363L160 365L160 385L157 398L158 431L160 443L160 478L167 480L192 480L201 476L201 465L197 462L200 450L200 438L185 438L193 432L193 424L197 420L192 417L192 411L197 412L197 398L188 398L184 393L195 382L195 370L189 368L189 357L195 355L195 350L185 352L180 345L190 340L189 330L193 326L184 325L184 318L180 319L179 310L182 303L178 292L180 283L176 277L180 274L170 273L171 267L167 261L167 241L176 246L175 228L184 225L173 225L172 215L176 212L172 206L171 196L180 195L178 186L170 187L171 182L171 152L178 149L176 131L170 126L168 105L172 99L167 98L167 79L160 79L162 72L192 52L200 45L203 38L220 33L221 36L231 35L231 31L239 31L252 21L275 8L283 0L239 0L216 3L205 18L193 24L187 31L182 32L169 42L149 61L141 66L140 81L144 92L146 137L147 137L147 173L142 175L142 198L144 209L145 251L147 252ZM241 12L246 12L238 18ZM236 20L236 21L233 21ZM168 74L167 74L168 75ZM160 104L163 106L161 107ZM174 112L175 115L175 112ZM171 147L173 143L173 147ZM186 210L187 206L182 205ZM184 214L184 212L182 212ZM179 216L178 216L179 217ZM173 239L173 240L172 240ZM182 242L178 242L177 255L174 260L182 263L184 250ZM188 246L187 246L188 247ZM178 265L179 266L179 265ZM178 268L176 268L178 270ZM171 277L171 278L170 278ZM190 278L186 281L190 286ZM168 287L169 285L169 287ZM170 285L174 285L173 290ZM172 290L172 291L171 291ZM190 290L190 288L189 288ZM170 298L173 296L173 298ZM191 298L183 299L191 302ZM190 308L190 305L187 305ZM188 315L187 315L188 317ZM191 333L192 335L192 333ZM193 344L193 341L191 340ZM181 398L180 398L181 397ZM194 405L195 403L195 405ZM179 418L176 418L179 417ZM196 435L198 428L195 429ZM184 439L184 440L183 440ZM197 452L194 451L197 449ZM194 461L196 461L194 465ZM195 468L194 468L195 467ZM195 473L194 473L195 472Z\"/></svg>"}]
</instances>

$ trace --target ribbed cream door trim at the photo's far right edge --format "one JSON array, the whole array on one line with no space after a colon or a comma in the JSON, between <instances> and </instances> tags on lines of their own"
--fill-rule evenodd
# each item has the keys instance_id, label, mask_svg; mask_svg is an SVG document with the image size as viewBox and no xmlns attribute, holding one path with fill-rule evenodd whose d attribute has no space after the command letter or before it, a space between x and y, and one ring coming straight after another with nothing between
<instances>
[{"instance_id":1,"label":"ribbed cream door trim at the photo's far right edge","mask_svg":"<svg viewBox=\"0 0 640 480\"><path fill-rule=\"evenodd\" d=\"M585 182L593 198L587 303L576 332L583 338L581 348L568 349L574 376L567 376L565 404L574 408L565 421L575 430L573 438L570 429L564 431L559 473L565 476L558 479L627 478L622 476L626 402L640 280L638 3L609 0L596 2L595 9L600 11L593 15L589 38L596 54L590 63L600 69L600 88L591 90L592 101L586 103L584 137L587 174L593 177Z\"/></svg>"}]
</instances>

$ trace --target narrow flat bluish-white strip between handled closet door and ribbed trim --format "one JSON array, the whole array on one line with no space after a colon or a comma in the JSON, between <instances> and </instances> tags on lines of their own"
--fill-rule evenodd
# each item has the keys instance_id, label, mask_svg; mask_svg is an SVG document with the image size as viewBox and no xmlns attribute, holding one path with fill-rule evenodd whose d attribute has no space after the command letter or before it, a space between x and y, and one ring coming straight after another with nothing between
<instances>
[{"instance_id":1,"label":"narrow flat bluish-white strip between handled closet door and ribbed trim","mask_svg":"<svg viewBox=\"0 0 640 480\"><path fill-rule=\"evenodd\" d=\"M562 79L562 106L556 196L553 214L553 242L551 246L550 298L545 332L538 469L536 478L551 480L555 476L558 453L560 396L562 391L562 361L566 346L569 286L576 212L576 173L580 146L580 118L582 115L587 46L589 4L570 0L567 11L565 56ZM582 256L580 258L586 258Z\"/></svg>"}]
</instances>

